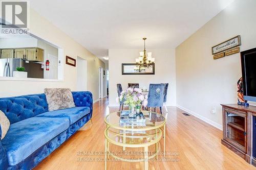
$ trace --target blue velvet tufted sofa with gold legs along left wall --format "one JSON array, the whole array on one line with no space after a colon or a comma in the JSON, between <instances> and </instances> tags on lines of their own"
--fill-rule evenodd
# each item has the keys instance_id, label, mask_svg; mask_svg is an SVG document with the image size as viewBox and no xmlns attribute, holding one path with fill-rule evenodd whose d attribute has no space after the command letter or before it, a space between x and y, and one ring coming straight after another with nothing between
<instances>
[{"instance_id":1,"label":"blue velvet tufted sofa with gold legs along left wall","mask_svg":"<svg viewBox=\"0 0 256 170\"><path fill-rule=\"evenodd\" d=\"M1 170L32 169L91 119L92 93L72 94L76 107L50 112L45 94L0 98L11 124L0 141Z\"/></svg>"}]
</instances>

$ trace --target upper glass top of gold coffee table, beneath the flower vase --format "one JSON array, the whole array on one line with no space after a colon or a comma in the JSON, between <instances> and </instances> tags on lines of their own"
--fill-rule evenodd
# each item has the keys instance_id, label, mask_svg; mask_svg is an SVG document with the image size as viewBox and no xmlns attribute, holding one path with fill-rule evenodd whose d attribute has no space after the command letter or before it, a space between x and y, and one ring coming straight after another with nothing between
<instances>
[{"instance_id":1,"label":"upper glass top of gold coffee table, beneath the flower vase","mask_svg":"<svg viewBox=\"0 0 256 170\"><path fill-rule=\"evenodd\" d=\"M127 112L127 110L125 111ZM129 131L153 130L164 126L166 123L165 117L159 113L151 111L142 111L142 113L146 119L145 123L120 123L121 111L106 115L104 121L109 127Z\"/></svg>"}]
</instances>

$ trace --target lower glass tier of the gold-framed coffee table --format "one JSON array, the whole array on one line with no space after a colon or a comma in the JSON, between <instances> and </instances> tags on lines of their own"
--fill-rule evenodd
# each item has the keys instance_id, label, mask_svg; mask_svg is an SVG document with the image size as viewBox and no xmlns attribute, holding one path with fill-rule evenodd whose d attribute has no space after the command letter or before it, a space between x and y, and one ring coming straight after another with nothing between
<instances>
[{"instance_id":1,"label":"lower glass tier of the gold-framed coffee table","mask_svg":"<svg viewBox=\"0 0 256 170\"><path fill-rule=\"evenodd\" d=\"M160 129L146 131L126 131L115 128L107 128L105 137L111 143L123 147L144 147L158 142L162 137Z\"/></svg>"}]
</instances>

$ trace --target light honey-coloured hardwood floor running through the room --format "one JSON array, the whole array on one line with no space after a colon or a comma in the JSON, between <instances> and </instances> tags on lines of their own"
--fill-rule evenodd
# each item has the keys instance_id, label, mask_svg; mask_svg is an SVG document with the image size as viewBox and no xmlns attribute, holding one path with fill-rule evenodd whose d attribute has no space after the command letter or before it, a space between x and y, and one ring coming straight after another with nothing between
<instances>
[{"instance_id":1,"label":"light honey-coloured hardwood floor running through the room","mask_svg":"<svg viewBox=\"0 0 256 170\"><path fill-rule=\"evenodd\" d=\"M89 122L34 169L104 169L104 116L118 108L109 108L108 100L102 99L93 109L92 127ZM221 144L222 131L182 112L168 107L166 123L166 152L178 155L166 156L168 161L150 161L149 169L256 169ZM143 169L143 162L112 161L107 165L111 170Z\"/></svg>"}]
</instances>

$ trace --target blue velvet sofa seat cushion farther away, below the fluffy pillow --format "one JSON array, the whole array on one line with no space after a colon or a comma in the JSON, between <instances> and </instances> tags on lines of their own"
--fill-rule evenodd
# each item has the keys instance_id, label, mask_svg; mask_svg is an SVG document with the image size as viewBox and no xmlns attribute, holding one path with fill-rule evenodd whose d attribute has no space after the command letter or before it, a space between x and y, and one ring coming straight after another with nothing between
<instances>
[{"instance_id":1,"label":"blue velvet sofa seat cushion farther away, below the fluffy pillow","mask_svg":"<svg viewBox=\"0 0 256 170\"><path fill-rule=\"evenodd\" d=\"M68 118L70 125L72 125L88 113L90 113L89 107L73 107L68 109L49 111L46 113L38 114L36 117Z\"/></svg>"}]
</instances>

